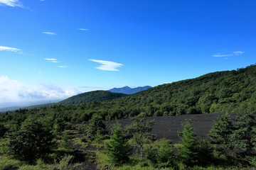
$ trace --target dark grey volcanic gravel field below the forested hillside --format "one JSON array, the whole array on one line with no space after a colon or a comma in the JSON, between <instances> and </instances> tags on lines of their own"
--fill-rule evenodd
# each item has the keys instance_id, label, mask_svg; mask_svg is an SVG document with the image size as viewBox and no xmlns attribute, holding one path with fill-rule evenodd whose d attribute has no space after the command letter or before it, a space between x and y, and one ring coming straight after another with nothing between
<instances>
[{"instance_id":1,"label":"dark grey volcanic gravel field below the forested hillside","mask_svg":"<svg viewBox=\"0 0 256 170\"><path fill-rule=\"evenodd\" d=\"M153 126L152 133L156 135L156 138L166 138L171 140L173 143L177 143L180 141L178 137L178 132L183 130L182 123L185 122L186 119L191 119L192 125L194 127L194 132L198 139L206 138L208 132L213 125L213 122L217 120L219 115L223 115L223 113L216 114L198 114L198 115L176 115L176 116L159 116L159 117L149 117L147 119L154 119L155 123ZM236 113L230 113L232 119L235 119ZM115 121L106 121L108 127L112 125ZM132 123L132 120L121 119L118 120L122 126L129 125Z\"/></svg>"}]
</instances>

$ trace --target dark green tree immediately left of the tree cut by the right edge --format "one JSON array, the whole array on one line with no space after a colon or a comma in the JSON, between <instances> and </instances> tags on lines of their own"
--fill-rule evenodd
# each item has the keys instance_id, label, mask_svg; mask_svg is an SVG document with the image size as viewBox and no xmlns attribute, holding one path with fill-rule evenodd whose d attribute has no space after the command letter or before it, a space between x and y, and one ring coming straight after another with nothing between
<instances>
[{"instance_id":1,"label":"dark green tree immediately left of the tree cut by the right edge","mask_svg":"<svg viewBox=\"0 0 256 170\"><path fill-rule=\"evenodd\" d=\"M213 123L208 135L212 143L217 145L217 150L225 154L225 156L228 156L228 151L233 149L231 142L233 130L234 127L230 120L230 115L226 113L225 115L220 115L218 121Z\"/></svg>"}]
</instances>

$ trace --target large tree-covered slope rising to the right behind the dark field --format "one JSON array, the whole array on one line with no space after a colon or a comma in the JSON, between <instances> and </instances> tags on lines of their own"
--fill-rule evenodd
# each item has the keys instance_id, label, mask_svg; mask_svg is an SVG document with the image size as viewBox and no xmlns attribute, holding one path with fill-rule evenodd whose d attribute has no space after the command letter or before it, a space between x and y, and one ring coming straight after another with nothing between
<instances>
[{"instance_id":1,"label":"large tree-covered slope rising to the right behind the dark field","mask_svg":"<svg viewBox=\"0 0 256 170\"><path fill-rule=\"evenodd\" d=\"M163 84L117 99L121 103L146 115L255 111L256 65Z\"/></svg>"}]
</instances>

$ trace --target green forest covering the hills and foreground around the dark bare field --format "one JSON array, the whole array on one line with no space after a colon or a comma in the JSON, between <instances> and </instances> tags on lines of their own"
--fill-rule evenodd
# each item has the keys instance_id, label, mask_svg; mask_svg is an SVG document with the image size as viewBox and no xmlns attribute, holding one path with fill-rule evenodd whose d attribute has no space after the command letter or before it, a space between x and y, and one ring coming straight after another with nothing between
<instances>
[{"instance_id":1,"label":"green forest covering the hills and foreground around the dark bare field","mask_svg":"<svg viewBox=\"0 0 256 170\"><path fill-rule=\"evenodd\" d=\"M0 114L4 169L254 169L256 65L137 94L92 91ZM204 139L191 120L180 142L157 139L148 117L223 113ZM228 113L237 113L235 119ZM132 119L122 125L122 119ZM107 124L111 122L111 125Z\"/></svg>"}]
</instances>

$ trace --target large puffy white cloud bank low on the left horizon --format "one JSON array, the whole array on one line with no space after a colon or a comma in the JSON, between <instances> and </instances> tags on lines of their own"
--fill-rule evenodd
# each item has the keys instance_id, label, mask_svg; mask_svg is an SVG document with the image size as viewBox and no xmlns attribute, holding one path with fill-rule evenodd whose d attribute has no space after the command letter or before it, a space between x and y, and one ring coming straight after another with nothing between
<instances>
[{"instance_id":1,"label":"large puffy white cloud bank low on the left horizon","mask_svg":"<svg viewBox=\"0 0 256 170\"><path fill-rule=\"evenodd\" d=\"M71 87L54 84L29 85L6 76L0 76L0 103L63 99L78 93L77 89Z\"/></svg>"}]
</instances>

